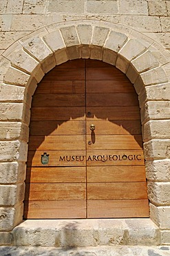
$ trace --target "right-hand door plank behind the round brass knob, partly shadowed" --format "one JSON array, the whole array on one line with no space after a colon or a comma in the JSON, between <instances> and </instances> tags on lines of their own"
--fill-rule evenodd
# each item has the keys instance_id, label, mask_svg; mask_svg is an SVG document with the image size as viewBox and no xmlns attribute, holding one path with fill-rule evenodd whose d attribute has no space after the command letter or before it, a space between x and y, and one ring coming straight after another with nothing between
<instances>
[{"instance_id":1,"label":"right-hand door plank behind the round brass knob, partly shadowed","mask_svg":"<svg viewBox=\"0 0 170 256\"><path fill-rule=\"evenodd\" d=\"M88 135L92 134L89 129L90 125L95 126L94 134L105 135L140 135L141 125L140 120L87 120L86 131Z\"/></svg>"}]
</instances>

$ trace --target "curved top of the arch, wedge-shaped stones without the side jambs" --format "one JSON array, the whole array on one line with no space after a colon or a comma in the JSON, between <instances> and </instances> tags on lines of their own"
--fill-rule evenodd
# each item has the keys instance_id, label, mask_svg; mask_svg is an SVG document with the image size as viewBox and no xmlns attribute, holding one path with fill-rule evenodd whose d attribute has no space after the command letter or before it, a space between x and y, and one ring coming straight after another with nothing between
<instances>
[{"instance_id":1,"label":"curved top of the arch, wedge-shaped stones without the side jambs","mask_svg":"<svg viewBox=\"0 0 170 256\"><path fill-rule=\"evenodd\" d=\"M127 35L118 31L118 25L114 31L112 24L110 27L106 24L106 27L105 22L98 21L92 24L82 24L81 21L78 24L77 21L76 25L70 26L57 24L55 30L54 25L48 26L23 37L15 48L11 46L11 51L8 48L3 53L12 66L8 68L4 82L25 85L29 75L40 82L54 66L81 57L116 66L126 73L139 95L145 86L168 82L151 39L146 37L145 40L143 36L142 40L134 39L133 33Z\"/></svg>"}]
</instances>

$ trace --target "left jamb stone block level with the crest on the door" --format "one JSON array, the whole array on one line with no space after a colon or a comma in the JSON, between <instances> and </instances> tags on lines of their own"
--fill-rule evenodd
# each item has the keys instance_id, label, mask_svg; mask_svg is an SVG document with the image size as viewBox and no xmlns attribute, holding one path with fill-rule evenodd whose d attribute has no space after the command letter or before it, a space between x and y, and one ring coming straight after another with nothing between
<instances>
[{"instance_id":1,"label":"left jamb stone block level with the crest on the door","mask_svg":"<svg viewBox=\"0 0 170 256\"><path fill-rule=\"evenodd\" d=\"M0 142L0 150L3 154L0 155L1 162L12 161L26 161L27 160L27 143L15 141Z\"/></svg>"}]
</instances>

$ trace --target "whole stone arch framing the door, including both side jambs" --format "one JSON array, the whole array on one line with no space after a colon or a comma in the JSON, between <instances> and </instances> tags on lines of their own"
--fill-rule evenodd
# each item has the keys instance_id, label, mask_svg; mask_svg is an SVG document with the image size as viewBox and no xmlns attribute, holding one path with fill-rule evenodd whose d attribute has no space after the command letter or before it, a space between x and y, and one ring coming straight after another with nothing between
<instances>
[{"instance_id":1,"label":"whole stone arch framing the door, including both side jambs","mask_svg":"<svg viewBox=\"0 0 170 256\"><path fill-rule=\"evenodd\" d=\"M170 205L169 194L164 194L170 166L169 53L153 39L105 21L52 24L23 37L3 53L8 70L5 68L1 85L1 125L5 131L1 146L7 152L1 158L5 173L1 205L7 216L2 230L10 231L22 221L30 106L37 83L54 66L81 57L116 66L134 84L141 109L150 216L166 230L169 227L159 212L162 206Z\"/></svg>"}]
</instances>

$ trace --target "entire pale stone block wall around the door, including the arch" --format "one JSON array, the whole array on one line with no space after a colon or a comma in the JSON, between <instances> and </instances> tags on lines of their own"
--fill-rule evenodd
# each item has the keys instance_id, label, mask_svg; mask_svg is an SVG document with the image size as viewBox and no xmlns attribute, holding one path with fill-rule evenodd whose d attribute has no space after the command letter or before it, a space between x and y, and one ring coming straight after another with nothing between
<instances>
[{"instance_id":1,"label":"entire pale stone block wall around the door, including the arch","mask_svg":"<svg viewBox=\"0 0 170 256\"><path fill-rule=\"evenodd\" d=\"M150 217L170 244L170 1L0 0L0 244L21 223L31 99L55 65L92 58L139 95Z\"/></svg>"}]
</instances>

